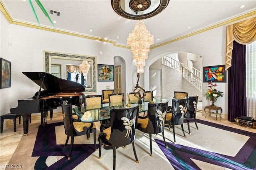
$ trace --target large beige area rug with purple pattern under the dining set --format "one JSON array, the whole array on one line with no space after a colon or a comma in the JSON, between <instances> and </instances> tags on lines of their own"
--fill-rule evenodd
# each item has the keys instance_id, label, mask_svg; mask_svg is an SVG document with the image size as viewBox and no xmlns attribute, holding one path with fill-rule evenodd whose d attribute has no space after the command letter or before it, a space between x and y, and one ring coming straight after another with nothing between
<instances>
[{"instance_id":1,"label":"large beige area rug with purple pattern under the dining set","mask_svg":"<svg viewBox=\"0 0 256 170\"><path fill-rule=\"evenodd\" d=\"M176 144L172 129L166 128L168 149L163 144L162 134L153 135L153 157L150 156L148 134L136 131L135 145L140 163L135 161L132 145L119 147L116 169L256 169L256 134L201 120L198 120L199 130L194 123L190 124L191 135L184 124L186 138L180 126L175 127ZM85 136L78 140L75 137L71 159L67 160L69 145L63 148L65 139L62 122L31 130L30 135L22 137L9 164L22 164L24 169L35 170L112 169L112 150L102 149L101 159L98 159L93 139L86 140Z\"/></svg>"}]
</instances>

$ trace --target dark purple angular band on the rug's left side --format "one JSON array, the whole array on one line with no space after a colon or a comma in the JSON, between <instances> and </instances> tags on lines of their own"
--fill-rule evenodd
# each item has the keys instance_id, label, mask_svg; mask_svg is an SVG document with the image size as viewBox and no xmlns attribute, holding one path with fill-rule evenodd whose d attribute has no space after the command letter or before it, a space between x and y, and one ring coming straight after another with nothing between
<instances>
[{"instance_id":1,"label":"dark purple angular band on the rug's left side","mask_svg":"<svg viewBox=\"0 0 256 170\"><path fill-rule=\"evenodd\" d=\"M71 158L67 160L70 145L68 144L67 147L64 148L64 144L56 144L55 127L61 125L64 125L63 122L47 124L38 129L32 153L32 156L40 156L35 163L35 170L70 170L95 152L94 144L74 144ZM74 140L76 140L76 137ZM64 157L48 167L46 165L48 156Z\"/></svg>"}]
</instances>

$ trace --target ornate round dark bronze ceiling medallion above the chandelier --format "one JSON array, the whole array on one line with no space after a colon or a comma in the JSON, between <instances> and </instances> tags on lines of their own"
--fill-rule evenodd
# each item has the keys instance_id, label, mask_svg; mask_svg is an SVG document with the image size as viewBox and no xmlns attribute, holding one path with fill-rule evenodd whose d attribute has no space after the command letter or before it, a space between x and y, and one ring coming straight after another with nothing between
<instances>
[{"instance_id":1,"label":"ornate round dark bronze ceiling medallion above the chandelier","mask_svg":"<svg viewBox=\"0 0 256 170\"><path fill-rule=\"evenodd\" d=\"M144 20L156 16L169 4L170 0L111 0L113 10L130 20ZM140 15L138 4L142 4Z\"/></svg>"}]
</instances>

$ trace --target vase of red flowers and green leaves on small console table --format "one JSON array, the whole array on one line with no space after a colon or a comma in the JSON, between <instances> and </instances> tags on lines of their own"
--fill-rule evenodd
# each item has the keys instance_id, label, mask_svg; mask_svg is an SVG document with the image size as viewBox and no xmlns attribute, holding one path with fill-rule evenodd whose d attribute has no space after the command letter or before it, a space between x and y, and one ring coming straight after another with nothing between
<instances>
[{"instance_id":1,"label":"vase of red flowers and green leaves on small console table","mask_svg":"<svg viewBox=\"0 0 256 170\"><path fill-rule=\"evenodd\" d=\"M212 81L208 83L208 89L207 93L205 94L206 99L210 100L212 102L211 106L216 106L216 101L218 97L223 97L223 92L216 89L217 84L212 84Z\"/></svg>"}]
</instances>

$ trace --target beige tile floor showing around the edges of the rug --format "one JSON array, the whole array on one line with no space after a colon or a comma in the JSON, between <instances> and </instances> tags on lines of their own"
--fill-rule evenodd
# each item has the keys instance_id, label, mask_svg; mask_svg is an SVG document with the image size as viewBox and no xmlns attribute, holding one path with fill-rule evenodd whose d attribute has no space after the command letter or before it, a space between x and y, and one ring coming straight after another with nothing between
<instances>
[{"instance_id":1,"label":"beige tile floor showing around the edges of the rug","mask_svg":"<svg viewBox=\"0 0 256 170\"><path fill-rule=\"evenodd\" d=\"M204 111L202 111L202 103L198 103L198 113L197 113L197 119L201 119L204 121L210 121L213 123L217 123L220 125L226 125L229 127L233 128L238 128L250 132L256 133L256 129L250 129L250 128L245 128L245 127L240 127L236 125L234 122L230 122L226 119L225 115L222 115L222 119L220 119L219 115L216 120L215 115L209 116L207 114L207 117L205 117ZM62 121L62 113L54 113L54 118L52 120L47 120L49 123L55 123L55 122L60 122ZM12 120L5 120L4 121L4 130L3 133L0 134L0 166L8 164L9 160L12 157L12 154L16 150L16 147L18 146L20 139L23 136L23 126L22 123L16 125L16 132L14 132L14 127L13 127L13 121ZM38 128L40 125L40 114L32 114L32 123L29 124L29 129L31 128ZM29 132L29 130L28 130ZM29 133L28 133L29 135Z\"/></svg>"}]
</instances>

